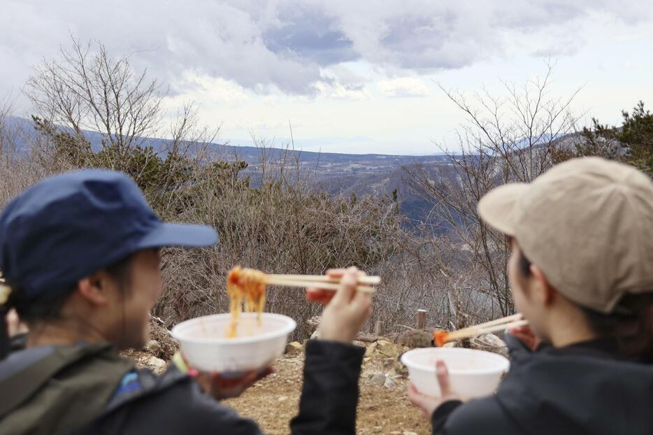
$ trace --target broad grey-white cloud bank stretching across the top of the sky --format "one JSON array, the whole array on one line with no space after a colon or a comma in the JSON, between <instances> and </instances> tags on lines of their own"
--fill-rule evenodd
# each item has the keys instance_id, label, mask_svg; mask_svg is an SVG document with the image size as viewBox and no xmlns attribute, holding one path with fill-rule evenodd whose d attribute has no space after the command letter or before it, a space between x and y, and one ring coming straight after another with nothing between
<instances>
[{"instance_id":1,"label":"broad grey-white cloud bank stretching across the top of the sky","mask_svg":"<svg viewBox=\"0 0 653 435\"><path fill-rule=\"evenodd\" d=\"M650 1L515 0L2 0L0 92L20 89L34 64L54 57L69 32L132 53L183 94L187 71L246 90L364 98L338 66L365 62L385 76L459 69L515 47L536 55L582 49L596 15L650 20ZM573 41L573 45L570 44ZM328 73L327 73L328 71ZM357 79L354 80L354 82Z\"/></svg>"}]
</instances>

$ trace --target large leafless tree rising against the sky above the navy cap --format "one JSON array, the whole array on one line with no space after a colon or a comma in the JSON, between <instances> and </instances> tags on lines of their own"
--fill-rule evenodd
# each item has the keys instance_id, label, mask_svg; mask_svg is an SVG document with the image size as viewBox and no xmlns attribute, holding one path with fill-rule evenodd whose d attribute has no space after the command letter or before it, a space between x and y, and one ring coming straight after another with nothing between
<instances>
[{"instance_id":1,"label":"large leafless tree rising against the sky above the navy cap","mask_svg":"<svg viewBox=\"0 0 653 435\"><path fill-rule=\"evenodd\" d=\"M204 159L220 130L202 127L192 103L166 126L166 90L146 70L135 71L129 57L110 57L101 43L71 38L71 48L38 66L25 89L36 128L50 140L40 150L44 164L50 160L53 171L126 172L146 192L165 193L168 206L189 159Z\"/></svg>"}]
</instances>

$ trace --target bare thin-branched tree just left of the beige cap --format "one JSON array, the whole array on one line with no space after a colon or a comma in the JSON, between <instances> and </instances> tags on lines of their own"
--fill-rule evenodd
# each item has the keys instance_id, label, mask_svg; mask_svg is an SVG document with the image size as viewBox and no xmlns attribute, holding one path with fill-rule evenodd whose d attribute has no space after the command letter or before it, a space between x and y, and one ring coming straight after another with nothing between
<instances>
[{"instance_id":1,"label":"bare thin-branched tree just left of the beige cap","mask_svg":"<svg viewBox=\"0 0 653 435\"><path fill-rule=\"evenodd\" d=\"M529 183L546 171L561 138L575 131L577 117L569 108L578 91L566 98L552 96L553 66L547 66L543 78L521 88L503 83L501 97L487 91L468 97L440 86L467 119L458 131L459 150L439 147L450 158L452 170L407 168L412 189L431 202L433 215L454 235L459 261L467 264L464 269L482 268L475 290L491 297L487 304L496 304L501 315L514 309L506 273L508 245L503 235L482 222L476 206L494 187Z\"/></svg>"}]
</instances>

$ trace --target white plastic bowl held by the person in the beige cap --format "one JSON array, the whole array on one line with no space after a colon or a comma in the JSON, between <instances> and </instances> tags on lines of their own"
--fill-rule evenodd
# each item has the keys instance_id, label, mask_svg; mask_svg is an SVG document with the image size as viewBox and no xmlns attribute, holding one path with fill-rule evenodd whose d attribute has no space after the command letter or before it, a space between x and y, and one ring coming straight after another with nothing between
<instances>
[{"instance_id":1,"label":"white plastic bowl held by the person in the beige cap","mask_svg":"<svg viewBox=\"0 0 653 435\"><path fill-rule=\"evenodd\" d=\"M507 358L484 350L465 348L424 348L409 350L401 356L408 376L417 390L440 397L436 378L436 360L442 359L451 378L452 389L464 399L492 394L501 375L510 368Z\"/></svg>"}]
</instances>

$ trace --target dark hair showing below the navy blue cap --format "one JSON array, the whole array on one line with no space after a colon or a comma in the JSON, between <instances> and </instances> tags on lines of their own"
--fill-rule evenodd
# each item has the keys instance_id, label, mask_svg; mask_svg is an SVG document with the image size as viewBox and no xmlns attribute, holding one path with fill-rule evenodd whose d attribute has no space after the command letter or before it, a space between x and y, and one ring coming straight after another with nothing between
<instances>
[{"instance_id":1,"label":"dark hair showing below the navy blue cap","mask_svg":"<svg viewBox=\"0 0 653 435\"><path fill-rule=\"evenodd\" d=\"M132 259L133 255L129 255L104 268L106 273L118 283L122 292L129 288ZM52 294L45 296L29 297L21 287L12 285L10 281L7 282L7 285L11 287L11 293L6 304L0 306L0 359L5 357L10 350L6 315L11 308L15 308L18 318L28 324L41 320L55 320L59 318L66 300L77 288L76 284L71 284L65 290L59 292L52 292Z\"/></svg>"}]
</instances>

